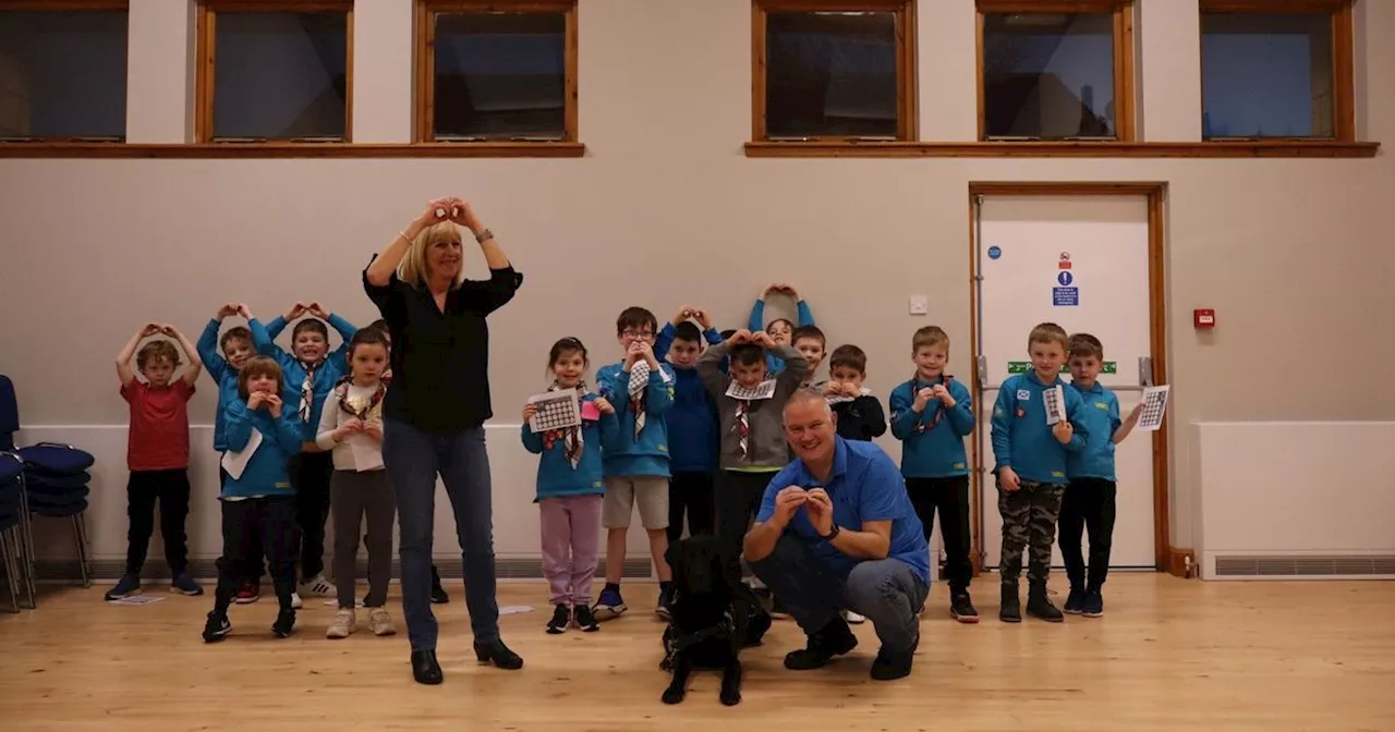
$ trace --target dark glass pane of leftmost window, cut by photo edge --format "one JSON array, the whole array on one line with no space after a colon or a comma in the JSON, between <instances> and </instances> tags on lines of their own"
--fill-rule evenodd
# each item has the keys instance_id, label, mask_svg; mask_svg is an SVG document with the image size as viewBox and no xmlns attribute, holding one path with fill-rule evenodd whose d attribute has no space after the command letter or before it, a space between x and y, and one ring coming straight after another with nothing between
<instances>
[{"instance_id":1,"label":"dark glass pane of leftmost window, cut by photo edge","mask_svg":"<svg viewBox=\"0 0 1395 732\"><path fill-rule=\"evenodd\" d=\"M126 138L126 11L0 13L0 138Z\"/></svg>"}]
</instances>

